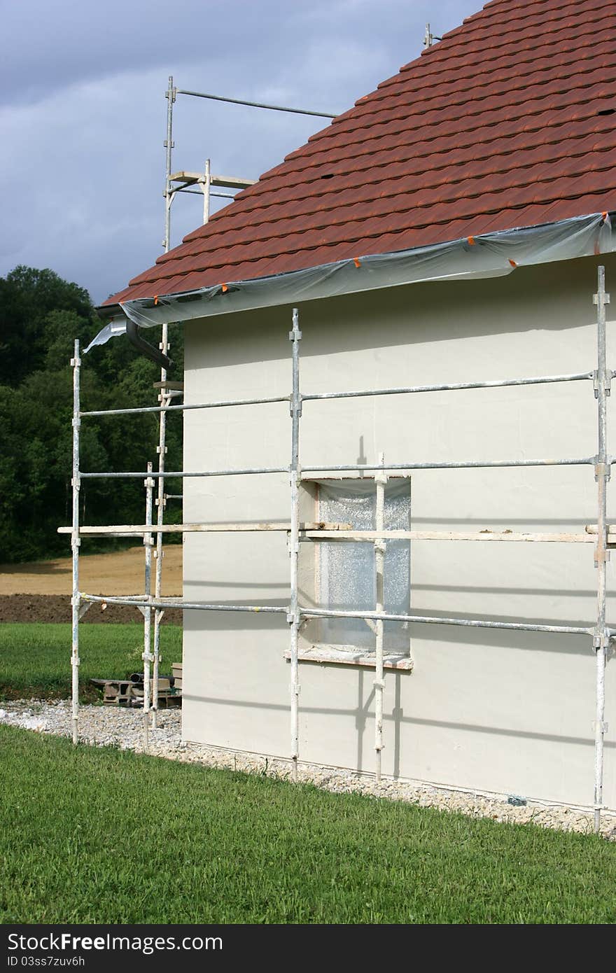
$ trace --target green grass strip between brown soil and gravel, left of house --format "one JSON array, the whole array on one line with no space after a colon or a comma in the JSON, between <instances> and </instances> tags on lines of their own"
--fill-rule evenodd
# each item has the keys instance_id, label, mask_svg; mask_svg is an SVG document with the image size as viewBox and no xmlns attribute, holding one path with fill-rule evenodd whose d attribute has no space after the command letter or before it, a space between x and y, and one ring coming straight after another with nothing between
<instances>
[{"instance_id":1,"label":"green grass strip between brown soil and gravel, left of house","mask_svg":"<svg viewBox=\"0 0 616 973\"><path fill-rule=\"evenodd\" d=\"M100 698L89 680L124 679L143 670L143 627L84 625L79 630L80 691L82 702ZM162 671L182 659L182 630L161 630ZM67 699L71 694L71 627L57 624L0 625L0 700L36 697Z\"/></svg>"}]
</instances>

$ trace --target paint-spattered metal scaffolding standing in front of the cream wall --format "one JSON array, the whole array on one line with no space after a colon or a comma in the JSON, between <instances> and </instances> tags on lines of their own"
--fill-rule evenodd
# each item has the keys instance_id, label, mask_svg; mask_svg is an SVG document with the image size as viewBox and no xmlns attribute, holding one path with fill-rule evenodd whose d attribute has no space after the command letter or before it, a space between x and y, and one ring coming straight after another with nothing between
<instances>
[{"instance_id":1,"label":"paint-spattered metal scaffolding standing in front of the cream wall","mask_svg":"<svg viewBox=\"0 0 616 973\"><path fill-rule=\"evenodd\" d=\"M84 412L80 402L80 376L82 361L79 342L75 342L74 357L71 360L73 368L73 523L71 527L60 527L60 532L71 533L72 563L73 563L73 592L72 592L72 719L73 741L79 739L79 622L83 614L94 603L134 605L144 617L144 704L143 728L144 746L148 745L150 720L156 727L156 710L158 703L159 666L160 666L160 622L163 612L167 608L183 608L199 611L234 612L251 614L255 612L277 613L286 617L289 628L289 652L291 670L291 699L290 699L290 760L292 775L297 779L298 762L300 760L299 745L299 667L301 661L299 648L299 634L302 625L311 618L345 618L363 619L370 624L375 634L375 754L376 776L380 780L380 754L383 747L382 701L384 691L383 668L383 625L385 622L404 622L415 625L448 625L464 628L496 629L508 631L551 632L561 635L584 635L592 640L592 648L596 657L596 713L595 713L595 791L594 791L594 820L595 829L599 830L600 816L603 809L603 739L606 731L605 713L605 665L607 650L612 638L616 637L616 629L606 624L606 562L610 549L616 546L616 526L607 523L607 483L610 479L611 465L616 462L607 451L607 398L610 395L611 380L616 373L606 365L606 306L609 295L605 292L605 271L598 268L598 291L594 301L597 305L597 369L571 375L552 375L525 378L509 378L493 381L470 381L456 383L442 383L431 385L415 385L407 387L392 387L380 389L360 389L355 391L332 391L305 394L300 388L300 330L299 311L293 309L292 328L289 332L291 342L292 380L291 391L288 395L278 395L267 398L235 399L227 401L203 402L198 404L171 404L171 400L163 395L162 405L158 407L143 407L134 409L116 409L96 412ZM165 376L163 376L163 382ZM559 382L588 382L593 388L597 399L598 440L597 451L591 455L581 457L543 457L537 459L496 459L485 461L459 462L406 462L385 464L384 455L380 453L377 464L352 463L344 465L302 465L300 462L300 427L304 405L314 401L325 401L347 398L366 398L388 395L429 394L436 391L455 391L460 389L489 389L512 386L527 386L550 384ZM163 389L164 391L164 389ZM248 467L244 469L218 469L196 471L167 471L164 469L164 421L166 414L174 411L229 409L237 406L258 407L272 403L288 403L291 418L290 428L290 463L288 466L278 467ZM159 445L159 469L153 470L152 463L148 464L145 472L86 472L80 468L80 431L84 419L100 415L126 414L161 414L161 441ZM588 524L584 531L561 533L523 533L510 530L501 531L431 531L431 530L393 530L384 528L384 487L387 477L395 471L412 470L452 470L452 469L494 469L503 467L542 467L542 466L588 466L591 467L597 481L597 523ZM300 487L303 480L314 478L315 474L352 472L354 474L373 473L377 500L377 517L375 530L355 530L349 523L301 523L300 522ZM172 478L186 480L194 477L231 477L231 476L268 476L285 475L289 478L289 512L290 520L286 523L254 522L254 523L163 523L164 509L164 481ZM143 480L145 486L145 523L142 524L108 524L105 526L87 525L80 523L80 487L86 479L130 479ZM158 483L157 483L158 482ZM153 508L154 494L157 494L158 512L154 523ZM286 534L289 551L289 600L287 605L238 605L217 604L206 601L186 601L184 598L162 596L162 544L165 533L189 532L220 532L247 531L263 532L278 531ZM108 536L141 536L145 545L145 585L144 592L137 595L91 595L80 590L79 585L79 553L81 538L89 535ZM156 542L154 541L156 537ZM374 548L377 598L374 610L342 611L329 608L315 608L305 606L299 599L299 554L302 542L321 543L337 540L339 542L363 542ZM438 541L438 542L505 542L505 543L551 543L551 544L589 544L594 546L595 565L597 568L597 617L593 626L574 625L542 625L515 621L491 621L489 619L442 617L413 614L393 614L384 610L384 577L383 563L386 545L389 541ZM156 550L155 550L156 548ZM154 579L154 593L152 592L152 560L157 556ZM154 616L154 627L152 618ZM154 631L152 631L154 628ZM152 669L151 669L152 667ZM152 679L151 679L152 675ZM152 686L152 692L151 692ZM151 717L152 713L152 717Z\"/></svg>"}]
</instances>

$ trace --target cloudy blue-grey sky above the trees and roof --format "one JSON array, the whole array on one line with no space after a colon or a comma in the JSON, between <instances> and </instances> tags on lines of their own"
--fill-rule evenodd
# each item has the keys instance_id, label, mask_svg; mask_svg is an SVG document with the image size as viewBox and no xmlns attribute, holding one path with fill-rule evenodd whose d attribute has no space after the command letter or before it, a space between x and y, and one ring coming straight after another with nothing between
<instances>
[{"instance_id":1,"label":"cloudy blue-grey sky above the trees and roof","mask_svg":"<svg viewBox=\"0 0 616 973\"><path fill-rule=\"evenodd\" d=\"M164 90L344 111L483 0L0 0L0 274L50 267L95 303L162 250ZM326 124L178 96L173 168L257 178ZM219 203L219 205L222 203ZM173 204L172 244L199 225Z\"/></svg>"}]
</instances>

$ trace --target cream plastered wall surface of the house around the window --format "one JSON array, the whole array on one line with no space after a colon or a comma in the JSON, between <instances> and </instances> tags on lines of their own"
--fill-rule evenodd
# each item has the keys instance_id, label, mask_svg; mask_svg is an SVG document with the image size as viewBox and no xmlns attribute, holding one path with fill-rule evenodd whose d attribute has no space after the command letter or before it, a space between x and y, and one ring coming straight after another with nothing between
<instances>
[{"instance_id":1,"label":"cream plastered wall surface of the house around the window","mask_svg":"<svg viewBox=\"0 0 616 973\"><path fill-rule=\"evenodd\" d=\"M616 293L616 259L603 259ZM479 282L434 283L299 304L309 391L486 380L596 367L585 259ZM186 401L288 394L290 308L186 326ZM616 322L608 364L616 368ZM610 415L614 407L610 406ZM288 465L284 404L185 414L185 469ZM616 424L610 421L612 450ZM308 402L301 462L587 456L597 449L590 382ZM591 467L416 471L417 528L583 530L596 523ZM612 517L613 487L608 491ZM186 521L289 516L285 475L186 479ZM284 534L188 534L187 599L286 604ZM614 567L608 568L613 591ZM414 610L594 624L592 546L414 542ZM616 623L613 596L608 624ZM289 753L284 616L187 611L184 737ZM595 659L590 638L420 626L412 673L386 674L383 770L505 793L593 799ZM372 670L300 667L301 756L372 771ZM605 798L616 806L616 664L607 671Z\"/></svg>"}]
</instances>

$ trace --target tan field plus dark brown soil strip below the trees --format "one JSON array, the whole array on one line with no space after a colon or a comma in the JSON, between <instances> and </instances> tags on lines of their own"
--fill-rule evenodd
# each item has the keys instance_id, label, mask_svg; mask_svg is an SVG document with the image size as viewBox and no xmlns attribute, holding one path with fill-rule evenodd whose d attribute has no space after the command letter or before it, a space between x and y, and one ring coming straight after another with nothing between
<instances>
[{"instance_id":1,"label":"tan field plus dark brown soil strip below the trees","mask_svg":"<svg viewBox=\"0 0 616 973\"><path fill-rule=\"evenodd\" d=\"M91 595L135 595L143 592L143 547L79 559L80 589ZM70 558L30 564L0 565L1 622L70 622ZM182 595L182 547L167 545L163 560L163 595ZM92 605L84 623L140 622L137 608ZM167 609L163 622L181 625L182 612Z\"/></svg>"}]
</instances>

